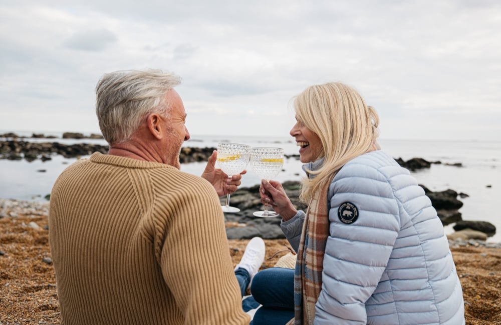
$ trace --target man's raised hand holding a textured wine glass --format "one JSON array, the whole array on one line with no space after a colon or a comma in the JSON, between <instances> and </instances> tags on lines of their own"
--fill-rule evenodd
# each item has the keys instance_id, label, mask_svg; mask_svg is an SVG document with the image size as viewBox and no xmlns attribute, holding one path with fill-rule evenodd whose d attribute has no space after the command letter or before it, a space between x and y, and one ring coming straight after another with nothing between
<instances>
[{"instance_id":1,"label":"man's raised hand holding a textured wine glass","mask_svg":"<svg viewBox=\"0 0 501 325\"><path fill-rule=\"evenodd\" d=\"M215 168L216 159L217 151L214 150L207 161L205 170L202 173L202 178L207 179L212 186L214 186L217 195L223 196L228 193L231 194L238 188L238 186L240 186L242 175L246 173L247 170L243 170L239 174L232 175L231 178L229 178L224 171L219 168Z\"/></svg>"}]
</instances>

